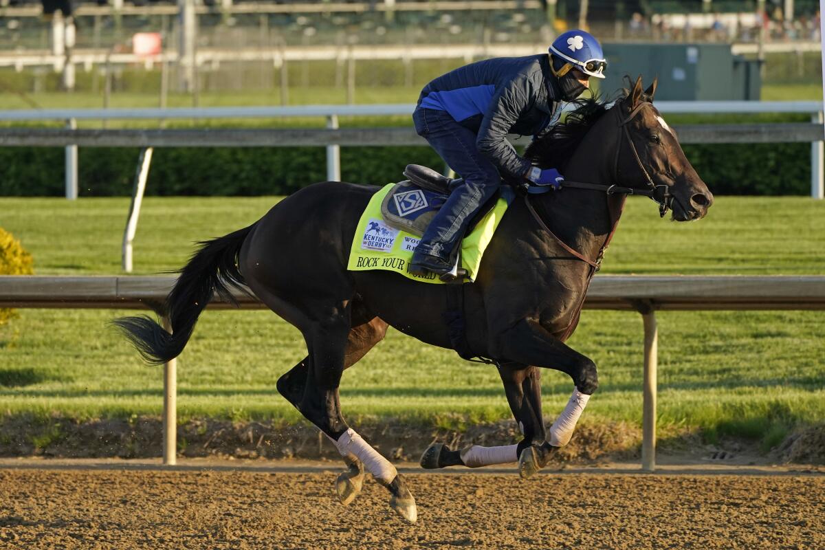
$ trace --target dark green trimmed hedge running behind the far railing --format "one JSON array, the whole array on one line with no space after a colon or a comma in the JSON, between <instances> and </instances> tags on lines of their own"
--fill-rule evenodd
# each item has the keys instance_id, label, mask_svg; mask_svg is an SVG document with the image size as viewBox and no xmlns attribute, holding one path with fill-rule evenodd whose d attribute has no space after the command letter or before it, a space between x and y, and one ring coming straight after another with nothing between
<instances>
[{"instance_id":1,"label":"dark green trimmed hedge running behind the far railing","mask_svg":"<svg viewBox=\"0 0 825 550\"><path fill-rule=\"evenodd\" d=\"M810 145L686 145L696 172L717 195L807 195ZM82 196L130 195L136 148L80 148ZM411 162L441 168L429 148L342 148L342 180L398 181ZM0 195L64 195L62 148L0 148ZM287 195L326 179L323 148L157 148L148 195Z\"/></svg>"}]
</instances>

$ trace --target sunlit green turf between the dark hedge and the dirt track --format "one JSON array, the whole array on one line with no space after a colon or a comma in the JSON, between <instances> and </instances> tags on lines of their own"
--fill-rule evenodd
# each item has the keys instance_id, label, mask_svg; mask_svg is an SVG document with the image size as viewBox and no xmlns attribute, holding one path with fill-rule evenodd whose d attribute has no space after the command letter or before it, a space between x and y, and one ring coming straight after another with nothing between
<instances>
[{"instance_id":1,"label":"sunlit green turf between the dark hedge and the dirt track","mask_svg":"<svg viewBox=\"0 0 825 550\"><path fill-rule=\"evenodd\" d=\"M191 243L259 218L276 198L150 197L134 247L136 274L173 270ZM35 256L38 274L120 273L126 199L0 198L0 225ZM658 219L631 198L606 274L822 274L825 204L806 198L720 197L699 223ZM109 310L21 310L0 328L0 411L77 418L159 414L159 368L139 362L106 322ZM825 418L820 312L659 313L659 421L781 440ZM638 314L585 311L572 346L600 367L587 421L641 421L642 324ZM304 356L299 332L272 313L206 312L178 362L181 416L293 421L275 381ZM544 375L546 414L572 384ZM509 416L495 369L390 331L342 383L351 419L395 416L460 427Z\"/></svg>"}]
</instances>

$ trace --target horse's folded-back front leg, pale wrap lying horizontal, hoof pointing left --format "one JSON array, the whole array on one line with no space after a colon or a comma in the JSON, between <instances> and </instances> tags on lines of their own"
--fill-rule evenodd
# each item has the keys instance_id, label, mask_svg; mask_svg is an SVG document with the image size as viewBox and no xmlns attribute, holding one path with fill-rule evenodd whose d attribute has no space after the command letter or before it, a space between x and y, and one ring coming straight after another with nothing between
<instances>
[{"instance_id":1,"label":"horse's folded-back front leg, pale wrap lying horizontal, hoof pointing left","mask_svg":"<svg viewBox=\"0 0 825 550\"><path fill-rule=\"evenodd\" d=\"M444 444L436 443L422 455L423 468L458 465L480 468L492 464L514 463L522 450L544 443L540 370L524 364L507 364L498 368L498 374L502 378L507 402L524 439L518 444L497 447L470 445L460 450L451 450Z\"/></svg>"}]
</instances>

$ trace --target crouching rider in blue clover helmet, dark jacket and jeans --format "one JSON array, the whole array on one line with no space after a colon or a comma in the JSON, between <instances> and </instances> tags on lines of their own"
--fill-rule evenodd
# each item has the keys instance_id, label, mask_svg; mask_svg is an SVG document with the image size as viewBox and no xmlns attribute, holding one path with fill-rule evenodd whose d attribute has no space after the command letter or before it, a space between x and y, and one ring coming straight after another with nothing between
<instances>
[{"instance_id":1,"label":"crouching rider in blue clover helmet, dark jacket and jeans","mask_svg":"<svg viewBox=\"0 0 825 550\"><path fill-rule=\"evenodd\" d=\"M560 101L573 101L589 79L605 78L601 45L585 31L567 31L549 54L470 63L436 78L421 92L413 113L418 135L463 180L432 219L409 271L449 273L469 220L493 197L504 178L558 189L563 176L520 157L507 134L540 136Z\"/></svg>"}]
</instances>

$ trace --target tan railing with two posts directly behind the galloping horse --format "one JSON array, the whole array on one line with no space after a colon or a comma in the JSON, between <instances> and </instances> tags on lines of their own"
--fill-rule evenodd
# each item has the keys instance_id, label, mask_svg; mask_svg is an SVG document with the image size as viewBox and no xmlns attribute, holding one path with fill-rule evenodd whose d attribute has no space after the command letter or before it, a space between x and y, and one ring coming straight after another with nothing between
<instances>
[{"instance_id":1,"label":"tan railing with two posts directly behind the galloping horse","mask_svg":"<svg viewBox=\"0 0 825 550\"><path fill-rule=\"evenodd\" d=\"M171 276L0 276L0 307L148 308L159 311L175 283ZM233 291L240 308L265 309ZM825 276L597 275L584 307L637 311L644 326L642 469L656 468L658 329L656 312L701 310L823 310ZM231 308L215 296L210 308ZM162 319L170 330L169 321ZM177 451L176 360L163 367L163 463Z\"/></svg>"}]
</instances>

